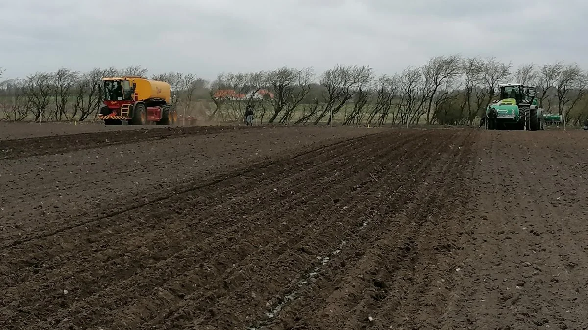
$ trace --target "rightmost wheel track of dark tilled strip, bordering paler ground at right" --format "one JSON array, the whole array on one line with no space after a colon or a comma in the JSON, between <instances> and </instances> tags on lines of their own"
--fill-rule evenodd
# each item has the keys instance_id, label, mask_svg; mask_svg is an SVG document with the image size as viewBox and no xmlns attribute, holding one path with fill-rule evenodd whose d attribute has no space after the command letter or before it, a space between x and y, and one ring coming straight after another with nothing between
<instances>
[{"instance_id":1,"label":"rightmost wheel track of dark tilled strip, bordering paler ground at right","mask_svg":"<svg viewBox=\"0 0 588 330\"><path fill-rule=\"evenodd\" d=\"M473 197L470 180L475 172L478 139L478 132L470 132L469 136L463 134L455 140L455 145L460 147L453 148L453 152L439 162L443 168L433 169L433 172L444 174L443 180L437 181L435 193L429 195L433 200L425 201L420 210L413 213L415 217L422 215L417 218L418 226L403 240L422 237L416 239L410 251L409 260L413 262L397 272L396 277L401 281L386 288L403 292L403 299L399 301L388 296L385 301L366 308L364 311L370 311L372 317L377 316L371 324L382 328L443 328L442 318L454 295L454 277L461 271L453 254L459 252L457 244L465 234L463 228L472 220L467 214ZM370 303L368 300L366 305ZM359 319L361 313L356 315Z\"/></svg>"}]
</instances>

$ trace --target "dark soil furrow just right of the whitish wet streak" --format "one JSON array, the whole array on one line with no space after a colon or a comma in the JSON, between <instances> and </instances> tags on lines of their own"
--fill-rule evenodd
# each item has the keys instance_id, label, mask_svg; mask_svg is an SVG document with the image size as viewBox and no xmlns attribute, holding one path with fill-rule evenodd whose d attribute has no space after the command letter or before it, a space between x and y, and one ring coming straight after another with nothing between
<instances>
[{"instance_id":1,"label":"dark soil furrow just right of the whitish wet streak","mask_svg":"<svg viewBox=\"0 0 588 330\"><path fill-rule=\"evenodd\" d=\"M450 139L440 139L439 143L448 145ZM389 204L386 205L385 213L383 213L385 214L383 221L374 222L369 226L368 230L362 231L355 240L351 240L333 257L324 275L319 277L315 285L312 286L312 288L321 288L320 291L314 292L312 288L309 288L305 292L306 295L310 295L312 292L315 296L310 305L303 303L304 300L301 299L298 304L292 304L284 308L282 315L271 324L272 328L275 326L286 328L292 326L295 322L293 319L295 317L297 318L298 326L307 324L308 326L338 328L338 326L349 324L343 320L349 317L353 318L353 315L355 315L353 309L358 304L362 304L364 295L377 294L377 299L385 298L382 292L374 293L372 289L379 285L393 284L395 273L401 269L402 262L410 262L410 253L416 247L414 246L414 239L407 237L410 236L408 234L409 230L410 228L418 227L418 224L413 222L416 221L417 208L427 206L427 199L433 196L430 192L434 191L432 185L435 183L429 181L430 179L427 180L429 176L426 173L432 171L431 166L438 160L439 154L435 151L444 150L444 148L442 145L434 146L429 144L423 149L429 150L429 152L433 151L433 154L430 154L429 157L425 155L419 157L429 159L430 163L423 164L423 172L419 172L415 176L418 179L415 180L412 186L406 187L407 190L403 191L399 196L400 200L387 201ZM407 179L410 180L409 178ZM407 202L409 203L409 209L405 210L406 206L402 207L402 205ZM411 209L412 211L410 211ZM398 211L401 213L394 215ZM379 228L380 226L383 226L383 228ZM373 233L382 234L373 237ZM404 238L402 238L402 235L404 235ZM381 239L381 237L385 238ZM376 248L361 252L360 255L353 254L354 251L362 251L365 249L364 247L371 246ZM406 258L406 261L403 261L404 258ZM377 261L378 259L380 259L380 262ZM388 259L389 262L382 259ZM383 265L386 266L383 267ZM358 278L360 279L359 282ZM323 288L325 288L324 291ZM331 292L331 289L335 291ZM333 308L334 306L337 306L337 308ZM343 307L351 308L352 310ZM302 311L299 308L303 308ZM315 314L319 313L319 311L322 312ZM299 318L297 315L300 315L301 312L303 315L308 315L308 317ZM367 317L365 316L365 319ZM329 323L329 320L335 320L335 324ZM353 321L356 320L353 319ZM350 328L353 328L353 326L350 326Z\"/></svg>"}]
</instances>

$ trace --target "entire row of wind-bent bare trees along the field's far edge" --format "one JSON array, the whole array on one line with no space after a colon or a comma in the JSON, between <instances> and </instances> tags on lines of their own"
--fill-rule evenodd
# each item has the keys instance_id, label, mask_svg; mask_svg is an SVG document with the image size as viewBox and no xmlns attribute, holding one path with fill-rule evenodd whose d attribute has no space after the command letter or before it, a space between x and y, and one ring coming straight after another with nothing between
<instances>
[{"instance_id":1,"label":"entire row of wind-bent bare trees along the field's far edge","mask_svg":"<svg viewBox=\"0 0 588 330\"><path fill-rule=\"evenodd\" d=\"M0 69L0 75L2 70ZM0 83L0 119L86 120L102 102L103 76L141 75L141 66L93 69L60 68ZM533 63L514 68L496 58L436 56L395 75L380 75L366 65L336 65L317 75L312 68L288 66L252 73L222 73L208 82L169 72L151 76L172 86L179 110L191 113L206 103L208 120L242 120L247 107L260 122L318 124L473 124L500 83L536 86L549 113L579 124L588 119L588 75L576 63Z\"/></svg>"}]
</instances>

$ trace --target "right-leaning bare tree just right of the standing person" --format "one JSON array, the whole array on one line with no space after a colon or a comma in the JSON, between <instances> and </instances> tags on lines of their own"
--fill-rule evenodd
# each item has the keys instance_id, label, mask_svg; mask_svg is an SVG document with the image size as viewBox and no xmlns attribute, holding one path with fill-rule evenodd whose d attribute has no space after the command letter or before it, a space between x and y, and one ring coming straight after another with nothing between
<instances>
[{"instance_id":1,"label":"right-leaning bare tree just right of the standing person","mask_svg":"<svg viewBox=\"0 0 588 330\"><path fill-rule=\"evenodd\" d=\"M266 83L273 93L273 99L270 100L273 113L268 123L273 123L282 112L288 116L298 107L308 95L313 76L312 68L295 69L286 66L268 73Z\"/></svg>"}]
</instances>

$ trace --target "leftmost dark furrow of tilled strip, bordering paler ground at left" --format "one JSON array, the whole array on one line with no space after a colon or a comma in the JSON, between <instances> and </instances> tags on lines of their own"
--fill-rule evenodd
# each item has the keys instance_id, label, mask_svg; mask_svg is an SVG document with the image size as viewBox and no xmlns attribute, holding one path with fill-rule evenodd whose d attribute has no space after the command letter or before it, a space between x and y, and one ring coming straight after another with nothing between
<instances>
[{"instance_id":1,"label":"leftmost dark furrow of tilled strip, bordering paler ground at left","mask_svg":"<svg viewBox=\"0 0 588 330\"><path fill-rule=\"evenodd\" d=\"M356 142L355 140L351 140L349 142L349 145L347 144L343 144L346 147L349 148L353 148L354 146L356 146L356 144L358 144L359 142ZM305 163L306 164L312 164L313 161L315 161L315 159L318 159L320 157L323 157L322 153L324 152L333 152L333 150L330 149L319 149L316 153L313 153L313 157L310 159L306 159ZM266 164L267 166L270 166L271 164ZM293 170L296 169L296 167L298 166L303 166L302 163L300 164L290 164L287 167L285 167L283 170ZM145 208L142 208L140 211L141 213L139 214L132 214L132 217L134 218L153 218L153 219L158 219L161 217L166 217L169 212L166 210L165 207L159 205L158 207L154 207L155 204L157 203L162 203L163 201L166 201L168 203L169 207L174 207L175 206L175 213L185 213L186 211L190 212L192 211L197 212L199 215L212 215L212 214L216 214L216 215L223 215L223 213L219 214L219 208L224 208L225 210L224 215L227 215L228 213L230 213L229 208L230 207L234 207L236 205L239 205L242 203L242 201L247 200L248 196L239 196L236 198L226 198L226 191L225 189L234 189L235 191L242 191L243 188L236 188L236 185L239 185L240 187L245 187L248 186L250 184L253 184L253 186L257 187L256 190L253 190L252 192L250 192L251 194L255 195L256 193L259 193L259 191L264 190L265 189L265 185L267 184L272 184L275 182L278 182L279 180L282 180L282 178L279 177L279 175L275 176L272 175L272 173L264 173L263 169L266 166L258 166L258 167L250 167L248 168L249 171L257 171L259 173L257 173L257 175L255 174L249 174L252 176L255 176L255 179L250 180L250 179L245 179L245 177L243 177L243 175L247 175L247 170L245 171L237 171L236 173L233 173L232 175L229 176L220 176L217 177L215 179L212 179L211 181L207 182L207 183L203 183L203 184L198 184L197 186L188 186L187 188L180 188L179 191L175 191L171 194L166 194L165 197L166 198L162 198L161 195L155 195L152 196L151 198L149 198L148 201L143 201L141 204L134 204L133 207L128 207L125 208L125 210L119 210L116 212L113 212L111 214L107 214L104 215L100 218L98 218L97 220L94 221L86 221L86 223L84 224L85 227L81 227L81 225L76 225L75 227L69 228L69 233L65 233L65 230L63 230L63 228L61 228L62 230L60 230L58 233L53 234L53 235L46 235L46 239L43 241L43 243L41 245L43 246L52 246L54 248L52 248L52 250L39 250L38 243L34 243L31 242L31 244L29 244L29 250L25 250L26 247L20 246L19 247L19 251L20 253L26 251L28 254L28 259L26 260L18 260L18 258L14 259L14 263L16 265L24 265L27 262L30 262L29 260L35 260L35 264L38 264L39 262L43 262L46 263L49 260L51 260L51 256L57 256L59 255L60 257L64 257L64 255L62 255L62 253L65 250L69 250L71 251L71 253L76 254L75 250L77 248L85 248L87 251L87 254L93 254L96 252L99 252L101 250L96 250L96 245L99 247L100 245L108 245L105 243L108 243L109 240L114 240L116 238L115 233L121 234L121 235L126 235L126 233L128 233L128 231L135 226L135 223L133 223L132 218L128 218L127 221L119 221L118 218L116 218L117 216L124 214L125 212L128 211L132 211L134 208L140 208L141 206L144 206ZM261 172L260 172L261 171ZM281 173L281 169L278 170L278 172L276 173ZM262 174L262 175L259 175ZM300 172L298 174L298 178L305 176L305 174L303 172ZM214 185L214 190L212 189L212 186ZM238 194L238 193L237 193ZM228 204L227 201L222 201L222 203L218 204L216 202L216 200L218 200L219 198L223 198L223 199L228 199ZM196 200L195 200L196 199ZM231 200L233 199L233 200ZM216 205L216 204L218 205ZM204 214L202 214L201 210L187 210L187 206L193 204L196 206L206 206L205 210L203 210L203 212L205 212ZM216 206L211 208L209 207L211 204L215 204ZM163 211L162 211L163 210ZM183 217L186 216L192 216L194 214L191 213L186 213L183 214ZM143 231L152 231L153 228L151 228L149 225L149 221L145 221L145 220L140 220L142 223L142 226L146 226L147 228L145 228ZM92 224L92 225L91 225ZM71 232L71 230L76 230L76 232ZM141 232L139 232L141 233ZM77 237L78 235L83 235L85 234L86 240L85 241L78 241L75 239L75 237ZM88 234L90 234L90 236L88 236ZM62 241L62 240L66 240L68 239L68 237L70 238L69 244L67 246L63 246L63 244L59 245L59 244L55 244L53 242L58 242L58 241ZM44 237L39 237L38 240L42 239ZM88 243L92 244L92 245L88 245ZM72 251L73 250L73 251ZM77 254L76 254L77 255ZM10 252L6 252L6 254L4 255L6 258L11 258L11 254ZM83 255L81 255L83 257ZM31 269L34 269L35 266L32 266ZM49 265L46 264L45 266L45 270L50 269ZM0 269L4 269L4 272L9 272L9 267L2 267ZM26 269L24 270L26 271ZM21 280L24 280L24 278L21 278Z\"/></svg>"}]
</instances>

